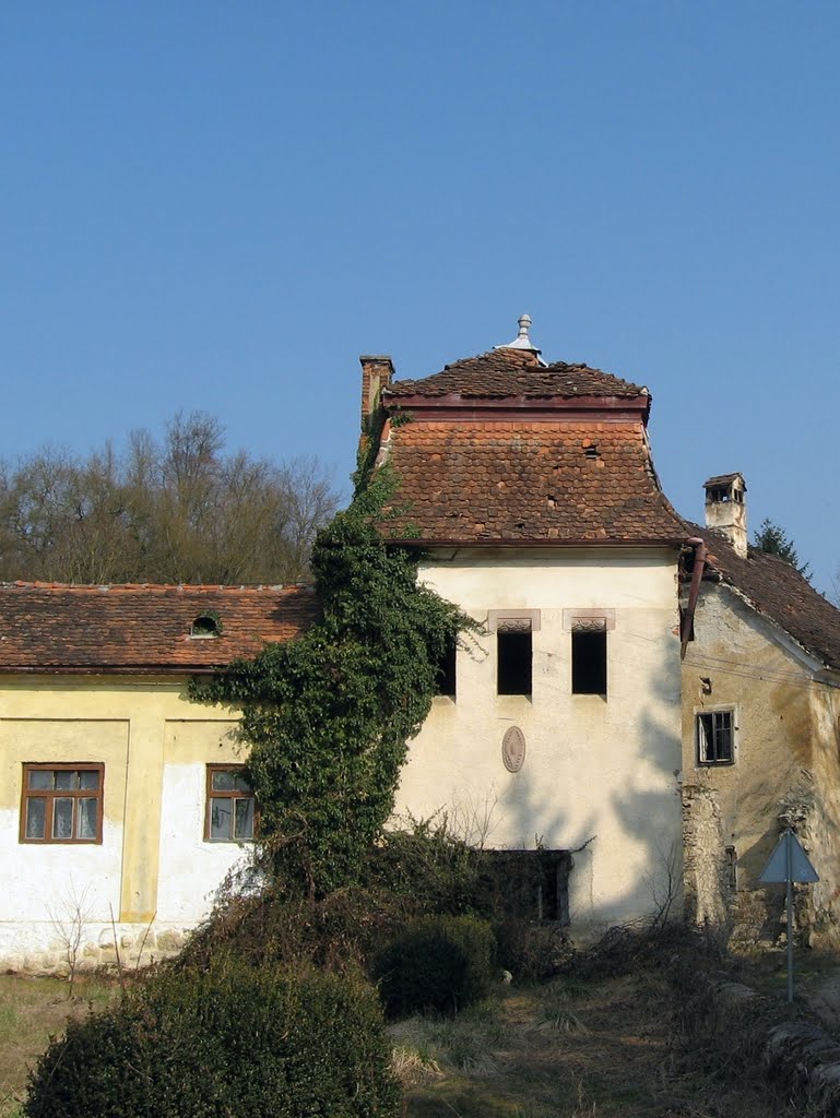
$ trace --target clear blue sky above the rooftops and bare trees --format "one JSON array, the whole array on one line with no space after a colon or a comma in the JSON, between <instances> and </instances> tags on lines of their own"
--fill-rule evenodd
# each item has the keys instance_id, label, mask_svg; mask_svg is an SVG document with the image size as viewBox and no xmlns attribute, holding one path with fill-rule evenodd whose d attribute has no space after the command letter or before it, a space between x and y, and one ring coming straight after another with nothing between
<instances>
[{"instance_id":1,"label":"clear blue sky above the rooftops and bare trees","mask_svg":"<svg viewBox=\"0 0 840 1118\"><path fill-rule=\"evenodd\" d=\"M0 7L2 443L202 408L345 485L362 352L649 386L666 491L840 563L838 0Z\"/></svg>"}]
</instances>

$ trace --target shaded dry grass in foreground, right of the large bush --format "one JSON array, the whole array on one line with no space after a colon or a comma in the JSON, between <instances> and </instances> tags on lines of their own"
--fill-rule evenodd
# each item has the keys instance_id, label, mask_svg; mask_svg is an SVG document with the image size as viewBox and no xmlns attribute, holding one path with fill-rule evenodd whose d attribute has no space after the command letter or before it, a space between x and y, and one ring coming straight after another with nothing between
<instances>
[{"instance_id":1,"label":"shaded dry grass in foreground, right of the large bush","mask_svg":"<svg viewBox=\"0 0 840 1118\"><path fill-rule=\"evenodd\" d=\"M412 1018L399 1043L442 1074L406 1082L407 1118L791 1118L761 1070L721 1077L679 1034L655 967L501 987L495 1010ZM492 1069L489 1072L489 1069Z\"/></svg>"}]
</instances>

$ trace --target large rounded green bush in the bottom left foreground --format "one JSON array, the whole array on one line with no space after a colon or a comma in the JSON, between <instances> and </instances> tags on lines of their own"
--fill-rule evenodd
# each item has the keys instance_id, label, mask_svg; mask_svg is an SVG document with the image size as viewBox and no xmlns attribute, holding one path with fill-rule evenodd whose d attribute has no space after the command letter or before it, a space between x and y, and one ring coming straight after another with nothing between
<instances>
[{"instance_id":1,"label":"large rounded green bush in the bottom left foreground","mask_svg":"<svg viewBox=\"0 0 840 1118\"><path fill-rule=\"evenodd\" d=\"M359 978L221 958L166 967L68 1025L32 1072L27 1118L395 1118L399 1089Z\"/></svg>"}]
</instances>

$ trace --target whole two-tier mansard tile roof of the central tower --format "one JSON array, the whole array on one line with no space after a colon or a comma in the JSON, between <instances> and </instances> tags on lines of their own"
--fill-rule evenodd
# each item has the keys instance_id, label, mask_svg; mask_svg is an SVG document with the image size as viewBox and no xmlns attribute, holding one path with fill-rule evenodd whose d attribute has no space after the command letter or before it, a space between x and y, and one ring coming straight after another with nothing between
<instances>
[{"instance_id":1,"label":"whole two-tier mansard tile roof of the central tower","mask_svg":"<svg viewBox=\"0 0 840 1118\"><path fill-rule=\"evenodd\" d=\"M645 388L499 349L386 381L388 530L445 543L662 543L688 534L657 480Z\"/></svg>"}]
</instances>

